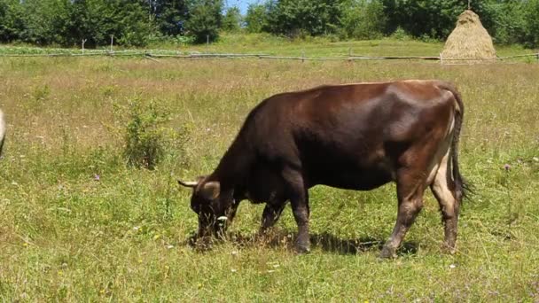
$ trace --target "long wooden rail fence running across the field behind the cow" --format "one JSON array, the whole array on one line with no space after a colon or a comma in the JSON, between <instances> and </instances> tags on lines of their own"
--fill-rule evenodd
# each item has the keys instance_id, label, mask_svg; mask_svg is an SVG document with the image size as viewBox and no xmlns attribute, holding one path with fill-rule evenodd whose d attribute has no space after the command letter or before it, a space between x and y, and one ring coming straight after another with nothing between
<instances>
[{"instance_id":1,"label":"long wooden rail fence running across the field behind the cow","mask_svg":"<svg viewBox=\"0 0 539 303\"><path fill-rule=\"evenodd\" d=\"M447 64L459 64L468 61L493 62L506 61L516 58L536 58L539 62L539 52L531 54L519 54L513 56L496 58L441 58L441 56L363 56L349 54L342 57L306 57L306 56L276 56L268 54L241 54L241 53L160 53L151 51L99 51L99 52L58 52L58 53L0 53L0 58L27 58L27 57L139 57L139 58L184 58L184 59L204 59L204 58L259 58L259 59L279 59L279 60L300 60L300 61L355 61L355 60L429 60L440 61Z\"/></svg>"}]
</instances>

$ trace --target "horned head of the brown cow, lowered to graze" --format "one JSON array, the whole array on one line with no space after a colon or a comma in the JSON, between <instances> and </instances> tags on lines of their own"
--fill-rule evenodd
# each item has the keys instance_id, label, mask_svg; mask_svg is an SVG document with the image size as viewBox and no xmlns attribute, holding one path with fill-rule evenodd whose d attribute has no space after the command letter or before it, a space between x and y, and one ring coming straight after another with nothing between
<instances>
[{"instance_id":1,"label":"horned head of the brown cow, lowered to graze","mask_svg":"<svg viewBox=\"0 0 539 303\"><path fill-rule=\"evenodd\" d=\"M199 215L197 237L210 235L221 236L226 230L230 216L230 207L234 199L232 192L223 191L218 181L208 181L201 176L197 181L183 182L180 185L192 189L191 209ZM229 217L230 216L230 217Z\"/></svg>"}]
</instances>

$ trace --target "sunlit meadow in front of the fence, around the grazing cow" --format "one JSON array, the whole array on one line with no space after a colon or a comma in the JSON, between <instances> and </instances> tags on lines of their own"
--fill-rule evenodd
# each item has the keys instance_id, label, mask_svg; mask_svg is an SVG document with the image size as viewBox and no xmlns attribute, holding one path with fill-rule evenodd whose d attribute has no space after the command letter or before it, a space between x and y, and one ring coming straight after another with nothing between
<instances>
[{"instance_id":1,"label":"sunlit meadow in front of the fence, around the grazing cow","mask_svg":"<svg viewBox=\"0 0 539 303\"><path fill-rule=\"evenodd\" d=\"M263 206L248 202L229 241L205 253L187 245L197 218L176 178L211 172L262 98L408 78L455 82L464 97L461 170L476 193L455 255L441 253L428 192L399 257L378 259L396 217L394 185L311 190L308 255L291 249L289 206L261 241ZM537 79L539 64L525 63L0 58L0 300L538 301ZM170 113L165 126L188 138L167 145L152 171L122 158L116 109L134 99Z\"/></svg>"}]
</instances>

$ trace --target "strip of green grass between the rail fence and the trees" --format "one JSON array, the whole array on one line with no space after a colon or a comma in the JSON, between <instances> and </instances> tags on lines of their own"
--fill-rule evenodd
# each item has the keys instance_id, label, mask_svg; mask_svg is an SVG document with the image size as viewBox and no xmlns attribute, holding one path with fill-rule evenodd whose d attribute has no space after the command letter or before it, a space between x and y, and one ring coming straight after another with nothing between
<instances>
[{"instance_id":1,"label":"strip of green grass between the rail fence and the trees","mask_svg":"<svg viewBox=\"0 0 539 303\"><path fill-rule=\"evenodd\" d=\"M117 54L125 52L145 51L154 55L160 54L189 54L189 53L236 53L236 54L262 54L269 56L293 56L307 58L343 58L354 56L439 56L444 44L425 43L416 40L399 40L383 38L369 41L340 41L333 42L327 37L311 37L306 40L291 40L269 34L226 34L218 42L199 45L157 43L150 44L143 49L123 49L115 46L113 51ZM86 54L107 52L110 47L105 46L97 50L86 50ZM81 54L80 49L59 49L54 47L38 48L28 45L0 45L0 57L13 54ZM530 55L536 50L524 49L519 45L496 45L498 57L514 55ZM518 58L512 61L536 62L536 58Z\"/></svg>"}]
</instances>

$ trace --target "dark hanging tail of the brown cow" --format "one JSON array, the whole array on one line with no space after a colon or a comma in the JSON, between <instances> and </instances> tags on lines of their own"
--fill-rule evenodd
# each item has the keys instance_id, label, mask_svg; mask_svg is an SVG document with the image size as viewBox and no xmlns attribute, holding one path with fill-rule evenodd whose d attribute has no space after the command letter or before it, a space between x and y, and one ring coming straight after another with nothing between
<instances>
[{"instance_id":1,"label":"dark hanging tail of the brown cow","mask_svg":"<svg viewBox=\"0 0 539 303\"><path fill-rule=\"evenodd\" d=\"M453 138L451 140L450 147L450 161L451 161L451 170L448 170L449 174L452 174L452 178L448 178L448 182L453 180L453 186L455 190L455 198L458 202L461 202L463 198L467 197L467 194L470 192L470 186L465 181L464 177L460 174L458 167L458 144L460 141L460 130L462 129L462 123L464 120L465 106L462 102L462 97L460 93L454 87L450 86L444 89L448 89L455 99L457 100L457 108L455 109L455 126L453 128ZM451 188L451 184L448 184Z\"/></svg>"}]
</instances>

